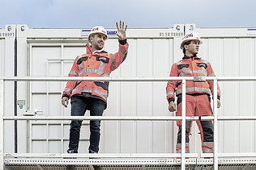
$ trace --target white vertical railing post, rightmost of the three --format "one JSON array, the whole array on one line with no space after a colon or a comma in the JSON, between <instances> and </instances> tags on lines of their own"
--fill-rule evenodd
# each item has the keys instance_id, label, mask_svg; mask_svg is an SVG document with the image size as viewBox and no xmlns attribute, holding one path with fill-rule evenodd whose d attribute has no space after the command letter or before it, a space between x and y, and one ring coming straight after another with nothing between
<instances>
[{"instance_id":1,"label":"white vertical railing post, rightmost of the three","mask_svg":"<svg viewBox=\"0 0 256 170\"><path fill-rule=\"evenodd\" d=\"M214 111L214 169L218 170L218 111L217 111L218 82L213 81L213 111Z\"/></svg>"}]
</instances>

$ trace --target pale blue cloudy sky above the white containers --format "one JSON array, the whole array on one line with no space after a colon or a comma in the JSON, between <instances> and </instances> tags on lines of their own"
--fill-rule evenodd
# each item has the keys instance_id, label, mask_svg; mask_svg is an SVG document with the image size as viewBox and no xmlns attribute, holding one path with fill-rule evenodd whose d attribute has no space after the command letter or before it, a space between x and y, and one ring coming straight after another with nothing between
<instances>
[{"instance_id":1,"label":"pale blue cloudy sky above the white containers","mask_svg":"<svg viewBox=\"0 0 256 170\"><path fill-rule=\"evenodd\" d=\"M196 27L256 27L255 0L0 0L0 28L166 28L179 23Z\"/></svg>"}]
</instances>

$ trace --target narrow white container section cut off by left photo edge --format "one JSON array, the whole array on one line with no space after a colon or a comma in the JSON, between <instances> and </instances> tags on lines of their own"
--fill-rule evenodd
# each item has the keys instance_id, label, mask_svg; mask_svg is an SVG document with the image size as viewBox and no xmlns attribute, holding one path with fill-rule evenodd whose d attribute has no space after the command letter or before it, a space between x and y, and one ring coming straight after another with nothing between
<instances>
[{"instance_id":1,"label":"narrow white container section cut off by left photo edge","mask_svg":"<svg viewBox=\"0 0 256 170\"><path fill-rule=\"evenodd\" d=\"M0 29L0 75L1 77L15 76L15 25L6 25ZM13 116L14 104L14 82L4 82L3 114ZM15 151L14 121L6 121L3 124L4 152Z\"/></svg>"}]
</instances>

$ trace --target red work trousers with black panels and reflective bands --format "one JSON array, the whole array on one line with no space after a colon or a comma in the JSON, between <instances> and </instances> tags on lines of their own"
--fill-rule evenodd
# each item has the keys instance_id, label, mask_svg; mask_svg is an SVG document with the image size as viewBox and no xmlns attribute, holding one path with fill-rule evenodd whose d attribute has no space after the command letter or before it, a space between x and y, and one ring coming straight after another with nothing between
<instances>
[{"instance_id":1,"label":"red work trousers with black panels and reflective bands","mask_svg":"<svg viewBox=\"0 0 256 170\"><path fill-rule=\"evenodd\" d=\"M177 96L177 116L181 116L181 95ZM211 102L207 94L186 94L186 116L211 116ZM214 147L213 141L213 123L211 121L197 121L198 129L201 135L202 150L204 153L212 153ZM181 121L177 121L177 152L181 152ZM186 152L190 152L190 131L192 122L186 121Z\"/></svg>"}]
</instances>

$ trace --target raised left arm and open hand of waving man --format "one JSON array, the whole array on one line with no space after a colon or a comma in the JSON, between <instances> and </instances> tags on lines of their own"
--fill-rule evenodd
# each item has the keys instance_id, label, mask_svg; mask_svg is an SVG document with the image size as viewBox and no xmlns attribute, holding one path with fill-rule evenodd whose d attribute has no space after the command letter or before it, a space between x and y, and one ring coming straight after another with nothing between
<instances>
[{"instance_id":1,"label":"raised left arm and open hand of waving man","mask_svg":"<svg viewBox=\"0 0 256 170\"><path fill-rule=\"evenodd\" d=\"M116 23L117 24L117 36L118 36L118 42L119 42L119 48L118 52L113 54L111 57L111 71L116 69L124 60L126 60L127 52L129 44L127 43L126 39L126 29L127 25L125 27L125 23L121 22Z\"/></svg>"}]
</instances>

